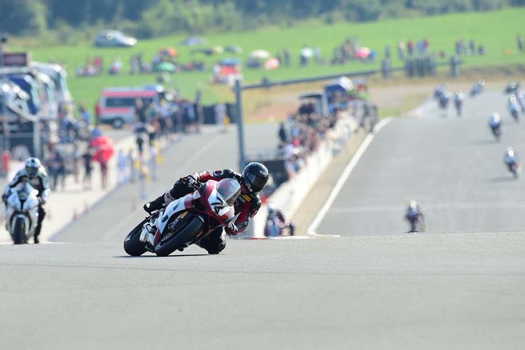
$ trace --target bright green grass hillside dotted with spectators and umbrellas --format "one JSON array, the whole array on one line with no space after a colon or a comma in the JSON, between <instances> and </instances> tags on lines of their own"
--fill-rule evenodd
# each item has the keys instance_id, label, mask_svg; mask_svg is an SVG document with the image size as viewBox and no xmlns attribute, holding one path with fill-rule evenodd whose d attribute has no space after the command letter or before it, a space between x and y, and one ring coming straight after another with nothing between
<instances>
[{"instance_id":1,"label":"bright green grass hillside dotted with spectators and umbrellas","mask_svg":"<svg viewBox=\"0 0 525 350\"><path fill-rule=\"evenodd\" d=\"M525 8L507 8L486 13L461 13L367 23L325 25L321 22L310 21L302 22L294 25L294 27L269 27L242 33L209 34L205 38L207 38L209 45L240 45L244 49L244 53L239 57L244 61L252 50L264 49L275 54L282 52L284 48L289 48L292 55L292 66L290 67L281 67L275 71L244 69L244 80L253 83L260 81L263 77L277 80L376 68L379 64L377 62L351 62L346 66L321 66L319 64L310 64L307 67L299 66L298 52L302 45L307 44L311 47L320 48L321 55L329 60L332 57L333 49L349 36L357 36L360 45L377 50L379 58L383 55L384 47L391 45L393 66L402 64L395 49L398 41L406 41L410 38L416 41L425 37L430 41L430 50L436 52L444 50L447 54L453 52L454 42L458 38L467 41L472 38L477 44L483 44L486 48L486 55L483 57L465 57L466 66L521 64L525 63L525 54L518 55L516 53L516 35L520 31L525 34L524 18ZM153 74L130 76L127 73L129 58L132 54L142 52L144 59L150 60L161 48L176 46L180 52L179 61L182 63L189 62L192 59L191 48L179 45L185 37L174 35L140 40L131 49L94 48L91 41L78 43L75 46L43 47L38 44L25 45L25 41L18 38L10 42L8 50L27 49L32 52L34 59L41 61L48 59L64 60L69 72L69 85L73 97L77 101L85 102L87 106L93 106L104 87L141 85L155 81L156 76ZM34 43L34 40L30 42ZM512 50L514 54L505 55L505 49ZM120 76L109 76L104 73L102 76L79 78L74 75L75 67L83 66L86 57L102 56L107 66L112 57L116 55L121 57L124 63L123 73ZM213 86L209 83L212 64L224 57L232 57L232 54L223 53L214 57L196 55L195 59L202 59L207 63L207 71L173 75L172 86L181 90L181 93L186 97L193 97L195 89L201 87L204 92L204 102L215 102L218 99L232 100L233 94L227 87Z\"/></svg>"}]
</instances>

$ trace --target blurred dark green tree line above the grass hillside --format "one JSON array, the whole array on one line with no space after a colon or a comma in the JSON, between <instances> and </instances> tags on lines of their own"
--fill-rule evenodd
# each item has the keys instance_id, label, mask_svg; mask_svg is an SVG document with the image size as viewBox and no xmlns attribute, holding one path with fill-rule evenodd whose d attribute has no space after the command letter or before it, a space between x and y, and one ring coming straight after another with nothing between
<instances>
[{"instance_id":1,"label":"blurred dark green tree line above the grass hillside","mask_svg":"<svg viewBox=\"0 0 525 350\"><path fill-rule=\"evenodd\" d=\"M524 5L525 0L0 0L0 31L38 35L112 27L148 38L309 18L362 22Z\"/></svg>"}]
</instances>

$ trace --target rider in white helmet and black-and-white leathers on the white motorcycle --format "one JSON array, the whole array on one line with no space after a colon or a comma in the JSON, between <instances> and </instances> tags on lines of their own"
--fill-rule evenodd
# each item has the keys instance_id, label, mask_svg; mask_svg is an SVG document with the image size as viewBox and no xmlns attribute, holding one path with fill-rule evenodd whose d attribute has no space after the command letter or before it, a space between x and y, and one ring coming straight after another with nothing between
<instances>
[{"instance_id":1,"label":"rider in white helmet and black-and-white leathers on the white motorcycle","mask_svg":"<svg viewBox=\"0 0 525 350\"><path fill-rule=\"evenodd\" d=\"M9 195L11 188L17 186L19 183L27 181L35 190L38 191L38 221L34 232L34 243L39 243L38 236L42 230L42 221L45 217L45 210L43 205L48 201L50 189L49 189L49 176L45 171L42 163L38 158L30 157L25 162L24 169L21 169L16 173L13 181L8 183L6 189L3 191L2 200L5 203Z\"/></svg>"}]
</instances>

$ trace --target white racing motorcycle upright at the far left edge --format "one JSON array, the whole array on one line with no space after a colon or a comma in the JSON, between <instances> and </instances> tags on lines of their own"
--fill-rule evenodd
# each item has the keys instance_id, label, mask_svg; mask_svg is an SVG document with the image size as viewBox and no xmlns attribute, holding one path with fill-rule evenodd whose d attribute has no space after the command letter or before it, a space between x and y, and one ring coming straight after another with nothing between
<instances>
[{"instance_id":1,"label":"white racing motorcycle upright at the far left edge","mask_svg":"<svg viewBox=\"0 0 525 350\"><path fill-rule=\"evenodd\" d=\"M27 243L38 222L38 191L27 182L11 188L6 200L6 229L15 244Z\"/></svg>"}]
</instances>

